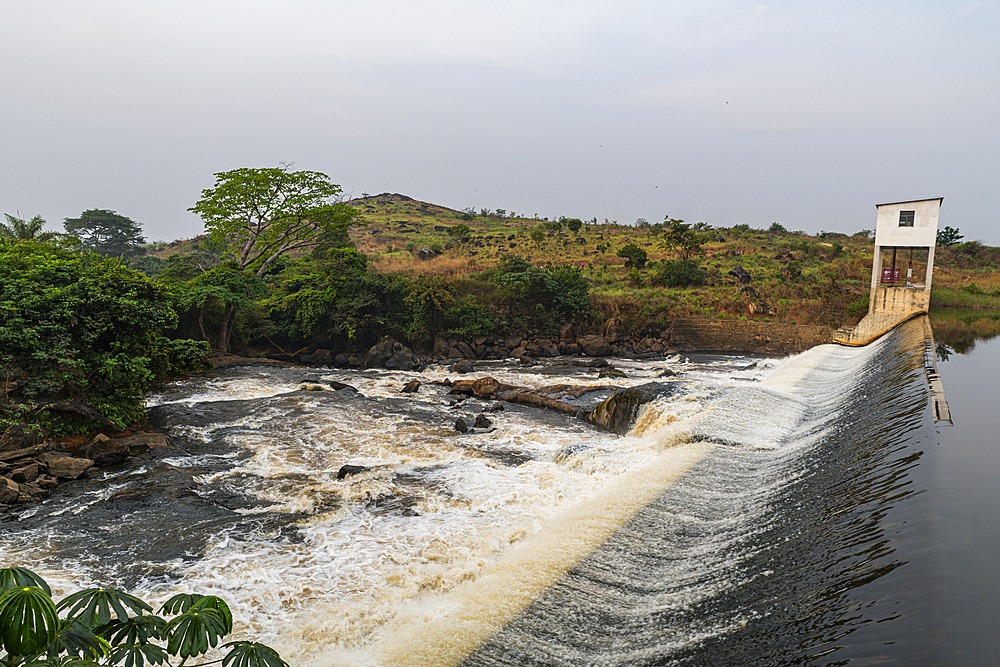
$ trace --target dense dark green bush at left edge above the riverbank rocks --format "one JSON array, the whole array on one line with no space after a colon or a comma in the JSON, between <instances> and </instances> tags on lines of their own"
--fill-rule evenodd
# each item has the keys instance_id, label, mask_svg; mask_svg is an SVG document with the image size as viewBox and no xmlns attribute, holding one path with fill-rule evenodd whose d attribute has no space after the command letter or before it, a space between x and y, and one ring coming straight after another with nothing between
<instances>
[{"instance_id":1,"label":"dense dark green bush at left edge above the riverbank rocks","mask_svg":"<svg viewBox=\"0 0 1000 667\"><path fill-rule=\"evenodd\" d=\"M0 314L0 365L23 399L82 401L120 424L144 417L157 332L176 323L162 287L116 259L0 242Z\"/></svg>"}]
</instances>

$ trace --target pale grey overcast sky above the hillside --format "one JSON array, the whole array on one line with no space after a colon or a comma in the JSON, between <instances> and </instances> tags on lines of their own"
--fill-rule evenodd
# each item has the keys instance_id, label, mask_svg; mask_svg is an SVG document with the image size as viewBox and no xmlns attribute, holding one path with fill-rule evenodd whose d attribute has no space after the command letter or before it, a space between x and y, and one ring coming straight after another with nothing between
<instances>
[{"instance_id":1,"label":"pale grey overcast sky above the hillside","mask_svg":"<svg viewBox=\"0 0 1000 667\"><path fill-rule=\"evenodd\" d=\"M809 233L944 197L1000 245L1000 3L0 0L0 211L203 230L214 173Z\"/></svg>"}]
</instances>

